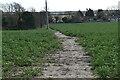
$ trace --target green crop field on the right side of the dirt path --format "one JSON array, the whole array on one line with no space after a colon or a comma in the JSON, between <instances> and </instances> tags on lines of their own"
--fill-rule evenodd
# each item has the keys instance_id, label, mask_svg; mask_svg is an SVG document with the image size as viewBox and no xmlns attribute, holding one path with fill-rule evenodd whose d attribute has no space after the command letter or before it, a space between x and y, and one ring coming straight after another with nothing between
<instances>
[{"instance_id":1,"label":"green crop field on the right side of the dirt path","mask_svg":"<svg viewBox=\"0 0 120 80\"><path fill-rule=\"evenodd\" d=\"M68 36L79 37L77 42L92 56L94 75L119 76L117 23L51 24L51 28Z\"/></svg>"}]
</instances>

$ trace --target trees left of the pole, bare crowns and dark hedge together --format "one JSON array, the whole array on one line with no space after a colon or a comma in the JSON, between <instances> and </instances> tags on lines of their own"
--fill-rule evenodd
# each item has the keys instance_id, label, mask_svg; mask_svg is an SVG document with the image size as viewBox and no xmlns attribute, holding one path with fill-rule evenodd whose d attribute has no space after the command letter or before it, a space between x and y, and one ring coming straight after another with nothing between
<instances>
[{"instance_id":1,"label":"trees left of the pole, bare crowns and dark hedge together","mask_svg":"<svg viewBox=\"0 0 120 80\"><path fill-rule=\"evenodd\" d=\"M2 8L3 30L28 30L41 28L46 24L46 12L35 12L34 8L25 9L19 3L6 3Z\"/></svg>"}]
</instances>

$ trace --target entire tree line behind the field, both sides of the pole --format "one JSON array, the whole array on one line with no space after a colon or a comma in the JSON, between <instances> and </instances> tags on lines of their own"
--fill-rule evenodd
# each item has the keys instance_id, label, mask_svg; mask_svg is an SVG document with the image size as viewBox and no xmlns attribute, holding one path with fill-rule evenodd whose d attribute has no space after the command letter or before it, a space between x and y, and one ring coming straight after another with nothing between
<instances>
[{"instance_id":1,"label":"entire tree line behind the field, both sides of the pole","mask_svg":"<svg viewBox=\"0 0 120 80\"><path fill-rule=\"evenodd\" d=\"M1 4L2 9L2 29L5 30L27 30L41 28L46 24L46 12L36 12L34 8L25 9L21 4L13 2ZM59 14L58 14L59 15ZM92 9L86 9L85 12L67 13L67 17L53 17L49 12L50 23L80 23L80 22L105 22L117 21L119 10L102 10L96 12Z\"/></svg>"}]
</instances>

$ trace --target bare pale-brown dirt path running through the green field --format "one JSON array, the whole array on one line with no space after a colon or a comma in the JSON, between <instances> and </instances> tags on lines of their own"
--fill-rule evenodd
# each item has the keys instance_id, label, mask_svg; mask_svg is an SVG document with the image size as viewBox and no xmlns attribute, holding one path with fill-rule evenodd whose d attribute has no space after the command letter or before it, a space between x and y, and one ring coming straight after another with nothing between
<instances>
[{"instance_id":1,"label":"bare pale-brown dirt path running through the green field","mask_svg":"<svg viewBox=\"0 0 120 80\"><path fill-rule=\"evenodd\" d=\"M51 56L56 63L44 64L44 75L40 78L93 78L90 57L85 55L83 47L75 42L77 38L55 32L58 39L63 40L63 51Z\"/></svg>"}]
</instances>

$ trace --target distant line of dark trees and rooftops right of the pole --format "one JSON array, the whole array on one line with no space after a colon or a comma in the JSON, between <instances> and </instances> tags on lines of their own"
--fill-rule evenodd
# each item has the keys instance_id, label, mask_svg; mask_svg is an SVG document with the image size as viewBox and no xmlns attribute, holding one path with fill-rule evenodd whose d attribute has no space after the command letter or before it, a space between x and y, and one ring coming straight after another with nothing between
<instances>
[{"instance_id":1,"label":"distant line of dark trees and rooftops right of the pole","mask_svg":"<svg viewBox=\"0 0 120 80\"><path fill-rule=\"evenodd\" d=\"M87 9L85 12L77 11L74 13L69 13L70 16L63 17L62 19L57 16L55 17L55 23L59 23L62 20L64 23L79 23L79 22L110 22L117 21L120 15L119 10L102 10L98 9L94 11L92 9Z\"/></svg>"}]
</instances>

